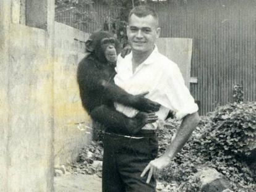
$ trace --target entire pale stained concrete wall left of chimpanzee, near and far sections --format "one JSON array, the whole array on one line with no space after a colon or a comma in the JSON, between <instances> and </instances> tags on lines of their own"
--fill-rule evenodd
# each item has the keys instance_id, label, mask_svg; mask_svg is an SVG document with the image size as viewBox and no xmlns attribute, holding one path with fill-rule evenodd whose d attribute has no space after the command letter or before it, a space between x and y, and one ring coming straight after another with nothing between
<instances>
[{"instance_id":1,"label":"entire pale stained concrete wall left of chimpanzee, near and far sections","mask_svg":"<svg viewBox=\"0 0 256 192\"><path fill-rule=\"evenodd\" d=\"M64 163L87 141L75 81L84 47L74 40L87 36L56 23L54 43L54 1L44 2L41 29L21 22L20 1L0 0L1 192L53 191L54 146Z\"/></svg>"}]
</instances>

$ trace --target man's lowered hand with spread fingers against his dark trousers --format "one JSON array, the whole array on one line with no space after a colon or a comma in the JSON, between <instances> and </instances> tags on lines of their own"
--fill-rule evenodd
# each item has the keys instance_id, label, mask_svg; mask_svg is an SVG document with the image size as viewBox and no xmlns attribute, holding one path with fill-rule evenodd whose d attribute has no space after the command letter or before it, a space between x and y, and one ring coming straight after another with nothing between
<instances>
[{"instance_id":1,"label":"man's lowered hand with spread fingers against his dark trousers","mask_svg":"<svg viewBox=\"0 0 256 192\"><path fill-rule=\"evenodd\" d=\"M145 173L147 173L149 170L147 178L147 183L149 183L152 175L155 175L156 177L161 170L169 165L170 162L171 159L168 156L161 156L157 159L154 159L153 161L150 161L147 167L143 170L140 177L144 177Z\"/></svg>"}]
</instances>

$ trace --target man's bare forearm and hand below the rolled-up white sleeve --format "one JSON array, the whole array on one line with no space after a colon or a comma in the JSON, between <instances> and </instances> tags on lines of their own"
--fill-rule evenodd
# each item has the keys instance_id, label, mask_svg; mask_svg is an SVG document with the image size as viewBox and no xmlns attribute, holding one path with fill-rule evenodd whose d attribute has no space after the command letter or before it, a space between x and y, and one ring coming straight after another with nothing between
<instances>
[{"instance_id":1,"label":"man's bare forearm and hand below the rolled-up white sleeve","mask_svg":"<svg viewBox=\"0 0 256 192\"><path fill-rule=\"evenodd\" d=\"M182 119L181 127L177 131L177 135L173 142L168 146L168 149L164 152L163 156L150 161L147 167L143 170L141 177L144 177L145 173L148 172L147 183L150 182L152 175L157 175L161 170L169 165L171 160L176 156L184 144L189 140L190 135L194 131L195 127L199 122L200 118L197 112L194 114L186 115Z\"/></svg>"}]
</instances>

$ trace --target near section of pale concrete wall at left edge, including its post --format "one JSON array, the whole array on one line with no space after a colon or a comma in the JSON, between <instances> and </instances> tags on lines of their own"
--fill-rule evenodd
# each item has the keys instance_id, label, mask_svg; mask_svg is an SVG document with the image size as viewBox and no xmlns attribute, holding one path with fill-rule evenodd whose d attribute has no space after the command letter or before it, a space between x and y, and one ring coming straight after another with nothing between
<instances>
[{"instance_id":1,"label":"near section of pale concrete wall at left edge, including its post","mask_svg":"<svg viewBox=\"0 0 256 192\"><path fill-rule=\"evenodd\" d=\"M0 191L53 191L54 3L41 30L14 22L11 2L0 2Z\"/></svg>"}]
</instances>

